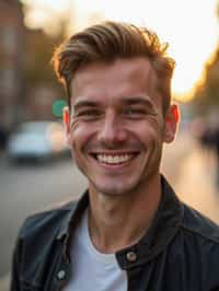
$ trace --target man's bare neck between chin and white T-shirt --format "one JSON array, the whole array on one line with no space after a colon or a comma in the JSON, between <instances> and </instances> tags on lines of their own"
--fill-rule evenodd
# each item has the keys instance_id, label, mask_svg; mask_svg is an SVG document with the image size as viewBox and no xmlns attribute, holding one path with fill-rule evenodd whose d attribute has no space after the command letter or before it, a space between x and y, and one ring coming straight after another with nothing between
<instances>
[{"instance_id":1,"label":"man's bare neck between chin and white T-shirt","mask_svg":"<svg viewBox=\"0 0 219 291\"><path fill-rule=\"evenodd\" d=\"M102 253L137 243L150 228L161 199L160 176L143 193L110 196L90 189L89 231Z\"/></svg>"}]
</instances>

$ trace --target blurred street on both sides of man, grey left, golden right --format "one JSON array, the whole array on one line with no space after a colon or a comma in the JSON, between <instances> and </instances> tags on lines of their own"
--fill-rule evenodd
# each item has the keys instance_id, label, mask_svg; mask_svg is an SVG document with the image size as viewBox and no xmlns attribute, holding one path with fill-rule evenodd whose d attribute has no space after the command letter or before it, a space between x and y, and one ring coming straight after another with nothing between
<instances>
[{"instance_id":1,"label":"blurred street on both sides of man, grey left, golden right","mask_svg":"<svg viewBox=\"0 0 219 291\"><path fill-rule=\"evenodd\" d=\"M178 197L219 222L215 166L212 154L204 152L186 133L164 149L162 172ZM70 160L14 167L0 158L0 276L7 278L16 232L25 217L61 199L74 198L87 183ZM1 281L0 290L7 290Z\"/></svg>"}]
</instances>

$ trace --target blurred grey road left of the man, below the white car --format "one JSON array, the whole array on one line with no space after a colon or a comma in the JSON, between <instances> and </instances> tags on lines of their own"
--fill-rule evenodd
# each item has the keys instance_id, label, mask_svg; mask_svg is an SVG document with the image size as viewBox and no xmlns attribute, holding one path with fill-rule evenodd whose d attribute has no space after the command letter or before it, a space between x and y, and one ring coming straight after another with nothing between
<instances>
[{"instance_id":1,"label":"blurred grey road left of the man, below the white car","mask_svg":"<svg viewBox=\"0 0 219 291\"><path fill-rule=\"evenodd\" d=\"M48 205L76 198L85 185L70 159L35 166L12 166L5 158L0 160L0 276L9 271L9 258L24 219Z\"/></svg>"}]
</instances>

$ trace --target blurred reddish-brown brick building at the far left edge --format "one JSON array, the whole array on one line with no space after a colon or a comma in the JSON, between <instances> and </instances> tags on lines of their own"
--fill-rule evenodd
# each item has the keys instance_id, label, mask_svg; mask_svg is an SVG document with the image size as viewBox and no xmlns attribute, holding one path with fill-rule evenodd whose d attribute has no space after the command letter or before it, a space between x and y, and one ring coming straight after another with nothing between
<instances>
[{"instance_id":1,"label":"blurred reddish-brown brick building at the far left edge","mask_svg":"<svg viewBox=\"0 0 219 291\"><path fill-rule=\"evenodd\" d=\"M19 0L0 1L0 146L21 112L25 26Z\"/></svg>"}]
</instances>

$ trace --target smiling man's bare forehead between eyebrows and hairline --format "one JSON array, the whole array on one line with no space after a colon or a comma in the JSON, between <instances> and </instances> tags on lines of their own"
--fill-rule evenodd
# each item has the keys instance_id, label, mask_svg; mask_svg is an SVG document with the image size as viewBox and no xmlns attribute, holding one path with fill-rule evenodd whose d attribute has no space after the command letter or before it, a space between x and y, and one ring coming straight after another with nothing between
<instances>
[{"instance_id":1,"label":"smiling man's bare forehead between eyebrows and hairline","mask_svg":"<svg viewBox=\"0 0 219 291\"><path fill-rule=\"evenodd\" d=\"M158 102L157 77L150 61L143 57L82 67L71 82L71 92L72 104L84 97L119 101L119 96L141 95Z\"/></svg>"}]
</instances>

